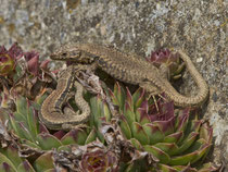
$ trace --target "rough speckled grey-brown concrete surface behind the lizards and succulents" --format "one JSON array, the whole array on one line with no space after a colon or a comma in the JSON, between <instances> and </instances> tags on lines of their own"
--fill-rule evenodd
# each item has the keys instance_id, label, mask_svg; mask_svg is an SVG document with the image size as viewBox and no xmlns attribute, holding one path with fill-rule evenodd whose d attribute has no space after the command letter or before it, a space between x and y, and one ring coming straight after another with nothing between
<instances>
[{"instance_id":1,"label":"rough speckled grey-brown concrete surface behind the lizards and succulents","mask_svg":"<svg viewBox=\"0 0 228 172\"><path fill-rule=\"evenodd\" d=\"M62 44L81 41L144 57L163 47L182 48L211 87L204 118L214 128L214 160L228 164L227 0L0 0L0 45L17 41L43 59ZM182 93L197 91L190 78L185 75Z\"/></svg>"}]
</instances>

